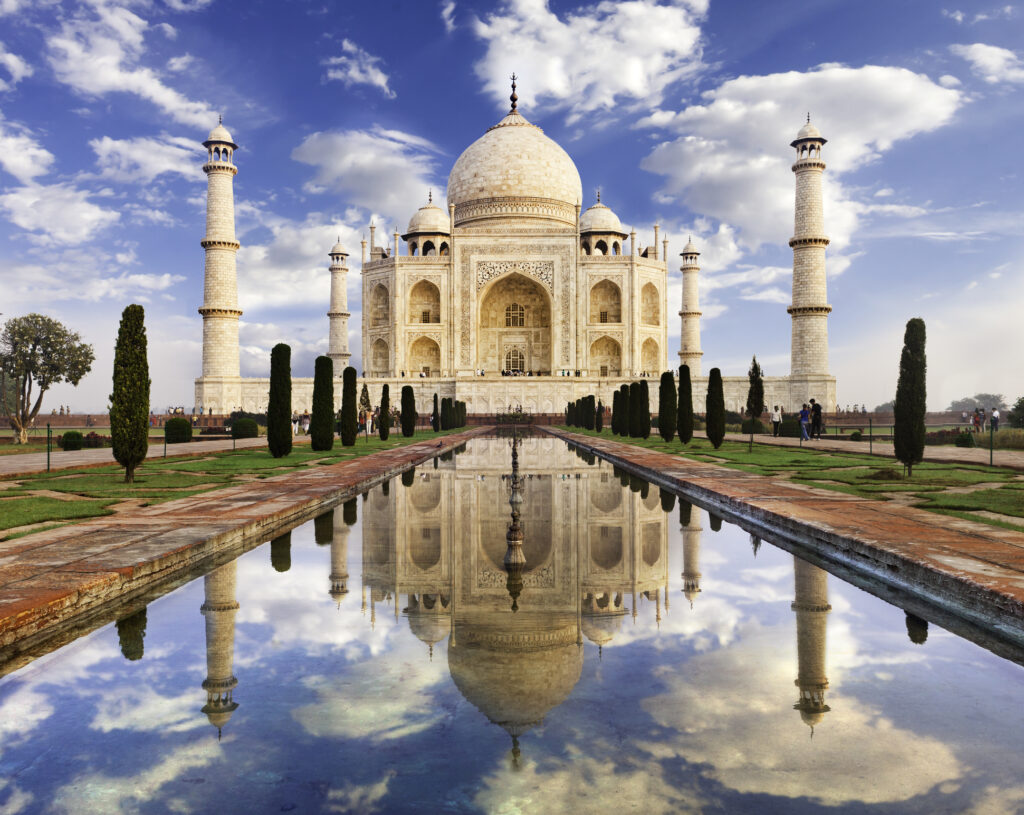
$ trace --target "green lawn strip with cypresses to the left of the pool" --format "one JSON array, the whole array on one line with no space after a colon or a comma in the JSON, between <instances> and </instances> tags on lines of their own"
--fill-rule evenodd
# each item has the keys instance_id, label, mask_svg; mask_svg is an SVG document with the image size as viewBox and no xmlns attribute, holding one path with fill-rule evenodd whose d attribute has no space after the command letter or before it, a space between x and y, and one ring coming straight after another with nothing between
<instances>
[{"instance_id":1,"label":"green lawn strip with cypresses to the left of the pool","mask_svg":"<svg viewBox=\"0 0 1024 815\"><path fill-rule=\"evenodd\" d=\"M369 440L362 437L351 447L343 447L340 441L336 441L333 449L321 453L314 453L306 444L299 444L290 456L281 459L272 458L263 447L212 453L200 459L156 459L145 462L135 471L133 484L124 482L124 470L117 465L2 479L14 482L14 485L0 490L0 540L19 534L4 534L3 530L28 524L110 515L114 511L111 506L119 501L141 500L143 506L161 504L243 483L248 480L247 476L266 478L309 467L338 464L458 432L460 430L440 433L418 431L412 438L404 438L398 432L387 441L381 441L376 436ZM44 489L65 494L68 500L32 495L34 490Z\"/></svg>"}]
</instances>

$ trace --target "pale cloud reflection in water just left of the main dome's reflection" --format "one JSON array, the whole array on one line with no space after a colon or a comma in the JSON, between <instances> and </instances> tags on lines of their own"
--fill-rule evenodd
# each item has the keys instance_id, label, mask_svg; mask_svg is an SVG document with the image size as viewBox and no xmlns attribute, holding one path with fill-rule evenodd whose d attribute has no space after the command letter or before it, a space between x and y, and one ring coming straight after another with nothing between
<instances>
[{"instance_id":1,"label":"pale cloud reflection in water just left of the main dome's reflection","mask_svg":"<svg viewBox=\"0 0 1024 815\"><path fill-rule=\"evenodd\" d=\"M361 662L343 679L306 678L303 684L317 701L296 707L292 716L316 738L406 738L433 727L445 715L428 690L446 679L440 660L409 674L382 674L372 662Z\"/></svg>"}]
</instances>

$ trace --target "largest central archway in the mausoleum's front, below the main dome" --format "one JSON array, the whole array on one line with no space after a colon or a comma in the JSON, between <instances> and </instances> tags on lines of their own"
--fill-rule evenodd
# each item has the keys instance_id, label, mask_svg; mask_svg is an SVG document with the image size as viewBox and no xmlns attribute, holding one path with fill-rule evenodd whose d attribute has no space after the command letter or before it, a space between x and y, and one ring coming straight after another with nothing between
<instances>
[{"instance_id":1,"label":"largest central archway in the mausoleum's front, below the main dome","mask_svg":"<svg viewBox=\"0 0 1024 815\"><path fill-rule=\"evenodd\" d=\"M522 371L550 372L551 346L551 302L544 287L518 272L492 284L480 299L476 368L503 371L515 351L522 355Z\"/></svg>"}]
</instances>

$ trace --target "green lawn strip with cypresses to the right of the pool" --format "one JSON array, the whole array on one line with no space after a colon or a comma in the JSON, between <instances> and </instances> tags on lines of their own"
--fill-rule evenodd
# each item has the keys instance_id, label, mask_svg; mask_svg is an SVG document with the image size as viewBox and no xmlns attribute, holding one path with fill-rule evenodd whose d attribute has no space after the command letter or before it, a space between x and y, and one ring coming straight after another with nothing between
<instances>
[{"instance_id":1,"label":"green lawn strip with cypresses to the right of the pool","mask_svg":"<svg viewBox=\"0 0 1024 815\"><path fill-rule=\"evenodd\" d=\"M594 431L563 428L572 433L598 436ZM1001 431L1000 431L1001 432ZM705 438L694 438L681 444L678 438L666 442L658 435L646 439L621 438L609 430L600 433L609 441L622 441L647 449L668 453L682 458L718 464L734 470L763 475L766 478L783 478L836 492L857 496L874 501L886 501L886 494L910 494L921 509L954 514L957 517L988 523L994 526L1021 529L1013 523L977 515L981 511L1024 518L1024 482L1015 470L982 465L940 464L924 462L915 465L913 475L906 478L902 465L891 459L816 451L812 447L794 449L757 445L750 451L746 442L725 441L715 449ZM970 492L949 492L952 487L973 484L1000 483L1000 486Z\"/></svg>"}]
</instances>

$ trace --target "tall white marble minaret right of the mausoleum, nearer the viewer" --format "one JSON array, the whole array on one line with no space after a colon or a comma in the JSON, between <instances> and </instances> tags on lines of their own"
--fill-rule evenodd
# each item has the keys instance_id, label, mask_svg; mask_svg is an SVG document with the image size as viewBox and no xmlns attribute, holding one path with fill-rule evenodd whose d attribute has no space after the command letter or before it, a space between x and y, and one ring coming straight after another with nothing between
<instances>
[{"instance_id":1,"label":"tall white marble minaret right of the mausoleum, nearer the viewer","mask_svg":"<svg viewBox=\"0 0 1024 815\"><path fill-rule=\"evenodd\" d=\"M811 124L807 124L791 142L797 151L793 172L797 176L797 202L793 248L793 305L786 309L793 315L793 343L790 357L791 410L811 397L831 410L835 393L829 401L827 386L822 381L828 377L828 313L831 306L825 293L825 247L821 208L821 145L825 139ZM833 380L835 390L835 380Z\"/></svg>"}]
</instances>

